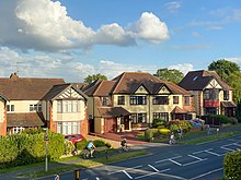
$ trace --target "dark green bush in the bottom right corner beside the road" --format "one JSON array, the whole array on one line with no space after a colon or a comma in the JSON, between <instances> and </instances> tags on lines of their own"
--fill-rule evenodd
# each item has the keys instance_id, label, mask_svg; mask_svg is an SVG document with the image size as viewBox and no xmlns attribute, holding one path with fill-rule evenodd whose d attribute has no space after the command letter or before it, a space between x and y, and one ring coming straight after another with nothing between
<instances>
[{"instance_id":1,"label":"dark green bush in the bottom right corner beside the road","mask_svg":"<svg viewBox=\"0 0 241 180\"><path fill-rule=\"evenodd\" d=\"M241 151L228 153L223 159L223 172L227 179L241 179Z\"/></svg>"}]
</instances>

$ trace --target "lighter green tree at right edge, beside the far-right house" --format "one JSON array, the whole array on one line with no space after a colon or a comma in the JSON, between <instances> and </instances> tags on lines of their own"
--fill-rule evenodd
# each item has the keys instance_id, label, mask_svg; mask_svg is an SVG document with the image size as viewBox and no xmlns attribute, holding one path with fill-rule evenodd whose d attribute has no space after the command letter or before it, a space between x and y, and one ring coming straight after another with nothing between
<instances>
[{"instance_id":1,"label":"lighter green tree at right edge, beside the far-right house","mask_svg":"<svg viewBox=\"0 0 241 180\"><path fill-rule=\"evenodd\" d=\"M241 72L231 73L227 79L227 83L233 88L233 100L238 104L241 100Z\"/></svg>"}]
</instances>

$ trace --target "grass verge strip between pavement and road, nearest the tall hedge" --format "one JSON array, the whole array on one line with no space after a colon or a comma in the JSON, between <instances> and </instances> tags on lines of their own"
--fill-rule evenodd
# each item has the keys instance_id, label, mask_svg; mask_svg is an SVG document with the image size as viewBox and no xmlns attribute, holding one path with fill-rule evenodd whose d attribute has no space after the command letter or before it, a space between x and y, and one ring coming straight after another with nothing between
<instances>
[{"instance_id":1,"label":"grass verge strip between pavement and road, nearest the tall hedge","mask_svg":"<svg viewBox=\"0 0 241 180\"><path fill-rule=\"evenodd\" d=\"M115 155L108 156L107 159L106 159L106 157L100 157L100 158L94 158L94 159L84 159L84 160L78 161L76 164L73 163L70 165L62 164L62 161L68 161L68 160L74 159L74 158L79 158L77 156L74 158L68 157L67 159L61 159L61 160L56 161L55 166L53 166L51 168L49 167L47 172L45 172L44 165L43 165L42 170L19 173L18 177L19 178L39 178L39 177L45 177L45 176L50 176L50 175L54 176L55 173L62 173L62 172L67 172L67 171L73 171L76 169L96 167L96 166L101 166L104 164L126 160L129 158L146 155L147 153L148 152L146 152L146 151L128 152L128 153L122 153L122 154L115 154Z\"/></svg>"}]
</instances>

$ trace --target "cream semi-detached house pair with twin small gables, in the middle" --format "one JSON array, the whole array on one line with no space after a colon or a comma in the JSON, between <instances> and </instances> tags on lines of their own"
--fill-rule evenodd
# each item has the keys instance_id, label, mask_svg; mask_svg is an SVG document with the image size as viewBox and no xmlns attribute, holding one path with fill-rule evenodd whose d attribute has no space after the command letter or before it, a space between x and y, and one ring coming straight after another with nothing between
<instances>
[{"instance_id":1,"label":"cream semi-detached house pair with twin small gables, in the middle","mask_svg":"<svg viewBox=\"0 0 241 180\"><path fill-rule=\"evenodd\" d=\"M158 118L195 118L187 91L146 72L124 72L112 81L95 81L83 91L96 133L147 129Z\"/></svg>"}]
</instances>

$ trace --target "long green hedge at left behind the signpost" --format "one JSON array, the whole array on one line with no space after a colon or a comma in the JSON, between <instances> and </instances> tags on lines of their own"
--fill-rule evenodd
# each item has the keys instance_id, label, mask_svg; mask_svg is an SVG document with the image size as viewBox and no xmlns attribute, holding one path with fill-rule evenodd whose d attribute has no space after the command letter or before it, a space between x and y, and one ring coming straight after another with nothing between
<instances>
[{"instance_id":1,"label":"long green hedge at left behind the signpost","mask_svg":"<svg viewBox=\"0 0 241 180\"><path fill-rule=\"evenodd\" d=\"M1 136L0 168L44 161L46 156L44 135L44 132L39 132ZM62 134L51 132L48 136L48 158L59 158L65 153L65 137Z\"/></svg>"}]
</instances>

